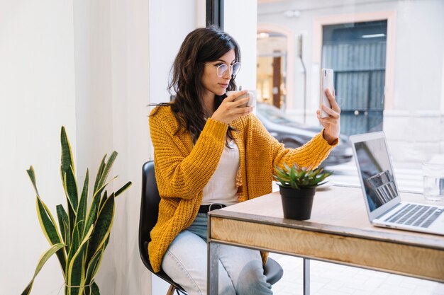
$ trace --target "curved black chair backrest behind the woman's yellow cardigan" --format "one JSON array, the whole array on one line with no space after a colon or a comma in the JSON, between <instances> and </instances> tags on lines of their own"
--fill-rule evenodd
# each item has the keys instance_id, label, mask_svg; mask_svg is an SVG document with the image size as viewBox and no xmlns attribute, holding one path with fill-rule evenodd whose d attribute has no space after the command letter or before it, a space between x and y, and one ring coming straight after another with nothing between
<instances>
[{"instance_id":1,"label":"curved black chair backrest behind the woman's yellow cardigan","mask_svg":"<svg viewBox=\"0 0 444 295\"><path fill-rule=\"evenodd\" d=\"M139 220L139 252L145 267L157 277L160 277L172 284L177 289L183 290L179 284L175 283L165 272L154 272L150 264L148 255L148 243L151 241L150 232L157 223L159 215L160 195L157 189L157 183L154 173L154 162L148 161L142 167L142 199L140 202L140 220Z\"/></svg>"}]
</instances>

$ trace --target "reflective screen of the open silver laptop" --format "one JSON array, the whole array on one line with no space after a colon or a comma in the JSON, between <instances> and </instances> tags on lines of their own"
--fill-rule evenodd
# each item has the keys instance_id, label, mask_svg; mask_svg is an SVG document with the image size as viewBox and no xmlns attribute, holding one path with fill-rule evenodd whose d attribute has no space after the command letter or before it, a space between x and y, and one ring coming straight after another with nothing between
<instances>
[{"instance_id":1,"label":"reflective screen of the open silver laptop","mask_svg":"<svg viewBox=\"0 0 444 295\"><path fill-rule=\"evenodd\" d=\"M370 212L399 195L384 136L354 141L361 184Z\"/></svg>"}]
</instances>

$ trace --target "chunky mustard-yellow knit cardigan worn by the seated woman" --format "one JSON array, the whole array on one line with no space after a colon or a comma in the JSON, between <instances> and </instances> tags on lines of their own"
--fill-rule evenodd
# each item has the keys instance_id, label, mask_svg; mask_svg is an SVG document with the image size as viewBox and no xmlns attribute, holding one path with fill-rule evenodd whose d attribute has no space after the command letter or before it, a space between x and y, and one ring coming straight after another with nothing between
<instances>
[{"instance_id":1,"label":"chunky mustard-yellow knit cardigan worn by the seated woman","mask_svg":"<svg viewBox=\"0 0 444 295\"><path fill-rule=\"evenodd\" d=\"M202 200L202 191L218 166L226 144L228 125L209 118L193 146L188 132L179 132L169 106L157 107L150 115L150 134L154 146L157 187L160 193L159 217L151 231L148 245L150 262L159 272L162 257L180 231L194 221ZM318 166L333 145L323 139L322 132L298 149L285 149L272 137L255 115L231 122L238 145L240 170L238 199L240 202L272 192L274 166L283 163ZM264 258L264 256L262 256Z\"/></svg>"}]
</instances>

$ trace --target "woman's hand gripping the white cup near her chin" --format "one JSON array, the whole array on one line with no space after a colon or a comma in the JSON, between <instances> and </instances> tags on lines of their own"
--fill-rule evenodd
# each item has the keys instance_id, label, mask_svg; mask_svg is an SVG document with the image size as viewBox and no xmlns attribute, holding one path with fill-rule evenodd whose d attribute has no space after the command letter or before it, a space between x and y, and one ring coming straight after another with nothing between
<instances>
[{"instance_id":1,"label":"woman's hand gripping the white cup near her chin","mask_svg":"<svg viewBox=\"0 0 444 295\"><path fill-rule=\"evenodd\" d=\"M241 98L240 100L234 101L239 96L248 93L248 91L236 91L235 93L231 93L230 96L227 96L219 105L218 109L213 112L211 119L216 120L218 122L223 122L225 124L230 124L231 121L238 119L238 117L242 117L250 114L252 112L252 107L241 107L240 105L248 103L250 98Z\"/></svg>"}]
</instances>

